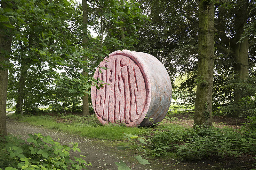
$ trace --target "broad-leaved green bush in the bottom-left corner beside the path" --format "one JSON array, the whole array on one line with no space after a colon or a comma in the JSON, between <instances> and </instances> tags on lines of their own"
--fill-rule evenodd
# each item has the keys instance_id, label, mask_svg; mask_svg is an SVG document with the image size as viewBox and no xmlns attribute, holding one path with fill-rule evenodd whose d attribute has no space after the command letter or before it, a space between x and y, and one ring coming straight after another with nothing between
<instances>
[{"instance_id":1,"label":"broad-leaved green bush in the bottom-left corner beside the path","mask_svg":"<svg viewBox=\"0 0 256 170\"><path fill-rule=\"evenodd\" d=\"M60 145L59 142L52 140L50 136L42 134L29 134L26 141L12 136L5 137L6 150L9 152L8 161L5 160L6 169L87 169L86 166L92 166L86 163L82 158L70 159L69 151L71 148L67 145ZM71 144L71 143L70 143ZM72 143L72 150L81 152L77 148L78 144ZM80 155L84 157L83 155Z\"/></svg>"}]
</instances>

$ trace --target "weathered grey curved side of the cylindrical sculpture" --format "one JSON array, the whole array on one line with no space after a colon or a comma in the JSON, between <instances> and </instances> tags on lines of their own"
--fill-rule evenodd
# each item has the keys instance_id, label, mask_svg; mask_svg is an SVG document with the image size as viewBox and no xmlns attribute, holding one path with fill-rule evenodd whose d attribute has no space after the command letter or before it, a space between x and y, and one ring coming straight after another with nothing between
<instances>
[{"instance_id":1,"label":"weathered grey curved side of the cylindrical sculpture","mask_svg":"<svg viewBox=\"0 0 256 170\"><path fill-rule=\"evenodd\" d=\"M154 123L161 122L167 114L172 100L172 84L170 76L164 65L154 56L135 52L145 69L148 71L148 76L151 84L151 101L148 108L148 119L145 118L140 126L150 126ZM149 121L153 118L153 123Z\"/></svg>"}]
</instances>

